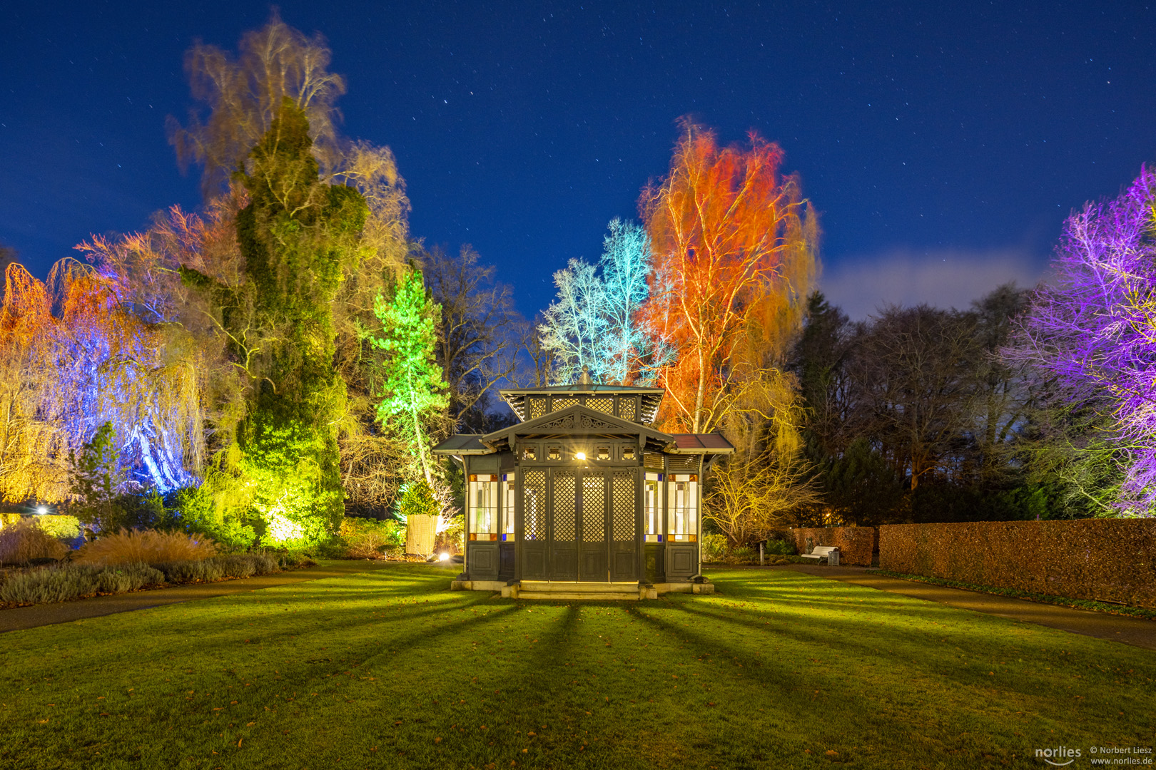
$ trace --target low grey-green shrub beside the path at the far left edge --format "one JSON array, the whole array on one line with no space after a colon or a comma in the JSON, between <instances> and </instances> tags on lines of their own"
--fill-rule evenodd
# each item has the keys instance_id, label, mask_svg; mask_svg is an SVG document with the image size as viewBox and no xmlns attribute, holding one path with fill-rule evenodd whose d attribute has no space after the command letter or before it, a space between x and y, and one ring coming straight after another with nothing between
<instances>
[{"instance_id":1,"label":"low grey-green shrub beside the path at the far left edge","mask_svg":"<svg viewBox=\"0 0 1156 770\"><path fill-rule=\"evenodd\" d=\"M13 575L0 585L0 601L67 601L94 593L135 591L163 581L160 570L141 563L119 567L65 565Z\"/></svg>"}]
</instances>

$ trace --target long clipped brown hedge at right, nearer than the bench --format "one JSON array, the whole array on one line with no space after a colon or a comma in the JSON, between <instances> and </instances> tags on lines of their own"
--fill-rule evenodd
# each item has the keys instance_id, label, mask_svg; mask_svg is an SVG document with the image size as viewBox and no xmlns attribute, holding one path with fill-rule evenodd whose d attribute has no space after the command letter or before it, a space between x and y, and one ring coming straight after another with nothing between
<instances>
[{"instance_id":1,"label":"long clipped brown hedge at right, nearer than the bench","mask_svg":"<svg viewBox=\"0 0 1156 770\"><path fill-rule=\"evenodd\" d=\"M1156 608L1156 519L885 524L879 529L883 569Z\"/></svg>"}]
</instances>

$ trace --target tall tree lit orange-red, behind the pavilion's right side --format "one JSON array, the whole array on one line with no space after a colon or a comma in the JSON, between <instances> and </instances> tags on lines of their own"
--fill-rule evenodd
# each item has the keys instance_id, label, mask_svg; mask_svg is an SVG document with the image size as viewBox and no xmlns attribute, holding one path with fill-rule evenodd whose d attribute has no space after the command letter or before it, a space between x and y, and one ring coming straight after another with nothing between
<instances>
[{"instance_id":1,"label":"tall tree lit orange-red, behind the pavilion's right side","mask_svg":"<svg viewBox=\"0 0 1156 770\"><path fill-rule=\"evenodd\" d=\"M654 276L644 319L675 350L659 371L662 425L709 432L728 410L731 381L771 366L798 330L815 271L817 224L783 151L755 134L721 148L686 124L670 172L640 200Z\"/></svg>"}]
</instances>

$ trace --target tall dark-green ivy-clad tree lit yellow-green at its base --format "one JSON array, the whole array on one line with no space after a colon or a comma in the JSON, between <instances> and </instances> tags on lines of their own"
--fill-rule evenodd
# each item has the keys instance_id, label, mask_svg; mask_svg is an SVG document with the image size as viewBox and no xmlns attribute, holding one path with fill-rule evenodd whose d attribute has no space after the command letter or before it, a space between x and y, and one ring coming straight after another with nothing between
<instances>
[{"instance_id":1,"label":"tall dark-green ivy-clad tree lit yellow-green at its base","mask_svg":"<svg viewBox=\"0 0 1156 770\"><path fill-rule=\"evenodd\" d=\"M245 264L239 289L194 270L246 375L237 469L268 543L316 541L344 513L338 425L346 386L334 367L332 302L358 259L368 208L353 187L318 177L309 121L289 99L239 172L249 205L237 214Z\"/></svg>"}]
</instances>

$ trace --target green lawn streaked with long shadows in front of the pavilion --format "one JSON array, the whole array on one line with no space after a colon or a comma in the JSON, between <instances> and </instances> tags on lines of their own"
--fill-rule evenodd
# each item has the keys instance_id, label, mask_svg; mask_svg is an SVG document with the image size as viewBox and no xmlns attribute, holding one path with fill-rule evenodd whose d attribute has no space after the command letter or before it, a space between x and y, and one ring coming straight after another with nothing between
<instances>
[{"instance_id":1,"label":"green lawn streaked with long shadows in front of the pavilion","mask_svg":"<svg viewBox=\"0 0 1156 770\"><path fill-rule=\"evenodd\" d=\"M0 767L1038 768L1156 732L1156 653L1119 643L783 569L640 604L452 571L0 635Z\"/></svg>"}]
</instances>

